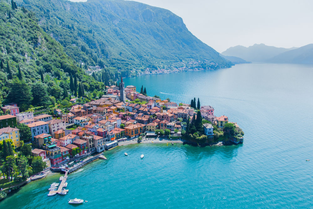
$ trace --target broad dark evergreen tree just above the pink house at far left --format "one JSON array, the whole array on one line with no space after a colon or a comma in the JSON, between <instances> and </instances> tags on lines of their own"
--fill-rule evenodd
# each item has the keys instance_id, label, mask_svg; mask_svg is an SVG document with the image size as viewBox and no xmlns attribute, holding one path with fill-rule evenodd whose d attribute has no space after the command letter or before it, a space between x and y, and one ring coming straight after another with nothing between
<instances>
[{"instance_id":1,"label":"broad dark evergreen tree just above the pink house at far left","mask_svg":"<svg viewBox=\"0 0 313 209\"><path fill-rule=\"evenodd\" d=\"M30 87L27 85L24 79L21 81L14 77L9 84L10 90L6 98L7 102L14 101L18 103L20 111L25 111L30 106L33 99Z\"/></svg>"}]
</instances>

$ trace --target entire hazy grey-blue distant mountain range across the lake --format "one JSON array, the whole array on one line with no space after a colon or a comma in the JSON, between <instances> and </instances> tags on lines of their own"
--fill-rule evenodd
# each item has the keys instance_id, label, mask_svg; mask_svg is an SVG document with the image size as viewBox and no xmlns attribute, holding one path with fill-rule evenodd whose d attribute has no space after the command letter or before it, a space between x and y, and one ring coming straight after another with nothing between
<instances>
[{"instance_id":1,"label":"entire hazy grey-blue distant mountain range across the lake","mask_svg":"<svg viewBox=\"0 0 313 209\"><path fill-rule=\"evenodd\" d=\"M238 45L230 47L222 52L221 55L226 59L228 59L228 56L235 56L248 62L313 64L313 44L289 49L267 46L265 44L254 44L249 47ZM234 63L233 60L228 60Z\"/></svg>"}]
</instances>

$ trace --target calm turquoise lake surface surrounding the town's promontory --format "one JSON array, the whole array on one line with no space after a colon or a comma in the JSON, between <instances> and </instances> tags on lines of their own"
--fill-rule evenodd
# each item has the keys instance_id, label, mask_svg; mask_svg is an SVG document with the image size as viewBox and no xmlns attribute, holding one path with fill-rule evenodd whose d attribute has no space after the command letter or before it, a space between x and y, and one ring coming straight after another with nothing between
<instances>
[{"instance_id":1,"label":"calm turquoise lake surface surrounding the town's promontory","mask_svg":"<svg viewBox=\"0 0 313 209\"><path fill-rule=\"evenodd\" d=\"M108 160L70 174L66 196L47 196L59 181L54 174L22 187L0 208L75 207L69 198L88 201L80 208L312 207L312 79L311 65L273 64L124 79L174 102L199 97L216 116L240 125L244 144L118 147L105 152Z\"/></svg>"}]
</instances>

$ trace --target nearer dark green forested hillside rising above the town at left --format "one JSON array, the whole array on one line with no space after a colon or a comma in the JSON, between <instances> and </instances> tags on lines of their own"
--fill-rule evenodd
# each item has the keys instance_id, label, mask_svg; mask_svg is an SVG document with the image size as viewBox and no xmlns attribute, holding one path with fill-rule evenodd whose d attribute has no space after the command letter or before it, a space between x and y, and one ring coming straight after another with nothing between
<instances>
[{"instance_id":1,"label":"nearer dark green forested hillside rising above the town at left","mask_svg":"<svg viewBox=\"0 0 313 209\"><path fill-rule=\"evenodd\" d=\"M104 83L85 75L38 25L35 14L17 5L0 2L0 105L16 102L24 111L56 102L66 105L70 94L93 92L94 98L103 93ZM100 80L114 76L103 71Z\"/></svg>"}]
</instances>

